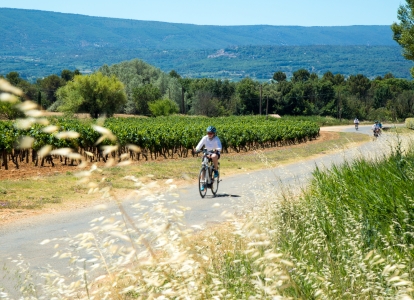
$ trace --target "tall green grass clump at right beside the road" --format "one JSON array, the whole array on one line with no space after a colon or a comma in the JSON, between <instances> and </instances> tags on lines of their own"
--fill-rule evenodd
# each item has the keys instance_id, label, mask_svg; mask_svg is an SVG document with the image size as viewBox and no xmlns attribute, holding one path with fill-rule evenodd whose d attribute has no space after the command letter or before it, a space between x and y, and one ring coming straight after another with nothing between
<instances>
[{"instance_id":1,"label":"tall green grass clump at right beside the road","mask_svg":"<svg viewBox=\"0 0 414 300\"><path fill-rule=\"evenodd\" d=\"M316 170L310 188L273 209L267 226L295 264L296 289L312 299L413 296L414 151ZM410 298L407 298L410 299Z\"/></svg>"}]
</instances>

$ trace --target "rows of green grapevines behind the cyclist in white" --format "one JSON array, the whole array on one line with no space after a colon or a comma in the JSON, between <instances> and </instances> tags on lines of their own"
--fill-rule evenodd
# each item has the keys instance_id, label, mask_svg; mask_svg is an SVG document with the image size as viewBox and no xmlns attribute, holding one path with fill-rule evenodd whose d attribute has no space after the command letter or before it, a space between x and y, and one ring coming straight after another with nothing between
<instances>
[{"instance_id":1,"label":"rows of green grapevines behind the cyclist in white","mask_svg":"<svg viewBox=\"0 0 414 300\"><path fill-rule=\"evenodd\" d=\"M53 159L65 164L74 163L75 159L60 155L39 157L37 151L46 145L50 145L51 149L71 148L91 162L106 161L109 157L121 161L156 159L159 156L187 157L190 153L194 156L192 149L205 135L209 125L217 128L224 153L302 143L319 135L319 126L313 122L258 116L109 118L101 125L112 132L111 135L116 137L114 139L102 139L102 132L96 130L94 120L51 118L50 123L56 126L57 131L49 132L39 124L22 130L12 122L0 122L0 166L8 169L8 161L16 168L22 162L35 166L43 166L45 162L54 165ZM77 134L73 135L74 132ZM33 138L30 149L21 149L23 136ZM99 139L100 143L96 145ZM110 145L118 147L106 153L103 146Z\"/></svg>"}]
</instances>

